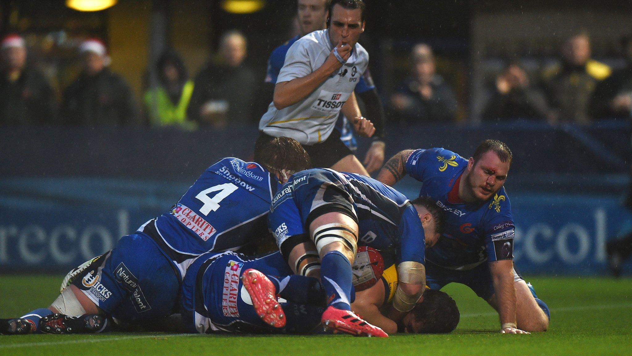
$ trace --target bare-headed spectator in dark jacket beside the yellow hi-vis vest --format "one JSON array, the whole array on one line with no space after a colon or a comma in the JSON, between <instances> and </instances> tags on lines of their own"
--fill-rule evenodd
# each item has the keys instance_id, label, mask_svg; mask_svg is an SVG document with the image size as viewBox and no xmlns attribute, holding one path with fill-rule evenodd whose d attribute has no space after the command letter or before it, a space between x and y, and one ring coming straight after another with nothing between
<instances>
[{"instance_id":1,"label":"bare-headed spectator in dark jacket beside the yellow hi-vis vest","mask_svg":"<svg viewBox=\"0 0 632 356\"><path fill-rule=\"evenodd\" d=\"M228 122L253 122L255 75L243 65L246 37L238 31L222 35L219 63L209 63L195 78L189 118L215 127Z\"/></svg>"}]
</instances>

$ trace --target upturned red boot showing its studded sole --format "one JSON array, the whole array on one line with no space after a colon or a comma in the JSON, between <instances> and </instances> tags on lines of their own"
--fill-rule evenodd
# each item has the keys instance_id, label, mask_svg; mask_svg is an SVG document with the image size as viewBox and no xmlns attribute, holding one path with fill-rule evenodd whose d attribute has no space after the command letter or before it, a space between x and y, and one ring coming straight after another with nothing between
<instances>
[{"instance_id":1,"label":"upturned red boot showing its studded sole","mask_svg":"<svg viewBox=\"0 0 632 356\"><path fill-rule=\"evenodd\" d=\"M284 327L285 314L277 300L276 287L268 277L256 269L246 269L240 277L248 291L257 315L269 326Z\"/></svg>"}]
</instances>

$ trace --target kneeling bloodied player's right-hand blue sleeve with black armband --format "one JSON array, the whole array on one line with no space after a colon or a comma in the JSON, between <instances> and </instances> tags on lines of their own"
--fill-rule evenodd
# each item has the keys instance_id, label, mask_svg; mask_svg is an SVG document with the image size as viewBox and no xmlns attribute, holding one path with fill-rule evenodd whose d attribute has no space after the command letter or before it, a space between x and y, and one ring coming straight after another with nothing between
<instances>
[{"instance_id":1,"label":"kneeling bloodied player's right-hand blue sleeve with black armband","mask_svg":"<svg viewBox=\"0 0 632 356\"><path fill-rule=\"evenodd\" d=\"M511 215L509 198L501 189L489 203L492 217L485 222L483 234L485 234L485 246L487 248L487 260L501 261L513 259L513 245L515 226Z\"/></svg>"}]
</instances>

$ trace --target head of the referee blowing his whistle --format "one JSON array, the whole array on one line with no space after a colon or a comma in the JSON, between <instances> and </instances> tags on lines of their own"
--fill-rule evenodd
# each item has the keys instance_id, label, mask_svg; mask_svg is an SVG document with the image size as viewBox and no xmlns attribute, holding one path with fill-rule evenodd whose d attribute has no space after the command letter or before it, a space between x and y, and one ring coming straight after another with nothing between
<instances>
[{"instance_id":1,"label":"head of the referee blowing his whistle","mask_svg":"<svg viewBox=\"0 0 632 356\"><path fill-rule=\"evenodd\" d=\"M346 9L336 4L331 12L331 23L329 24L331 44L337 46L338 42L341 41L343 44L355 46L360 39L360 34L364 32L362 11L360 9Z\"/></svg>"}]
</instances>

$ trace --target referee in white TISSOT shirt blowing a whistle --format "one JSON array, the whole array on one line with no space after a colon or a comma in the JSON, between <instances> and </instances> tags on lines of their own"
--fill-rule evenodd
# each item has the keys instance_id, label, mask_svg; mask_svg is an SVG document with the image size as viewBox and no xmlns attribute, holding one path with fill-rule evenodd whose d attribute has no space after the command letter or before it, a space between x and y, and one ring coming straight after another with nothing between
<instances>
[{"instance_id":1,"label":"referee in white TISSOT shirt blowing a whistle","mask_svg":"<svg viewBox=\"0 0 632 356\"><path fill-rule=\"evenodd\" d=\"M368 53L357 43L365 27L364 8L362 0L333 0L327 29L298 39L288 49L274 99L259 122L257 143L292 137L305 147L314 167L368 175L334 130L342 112L361 136L375 132L353 92L368 67Z\"/></svg>"}]
</instances>

